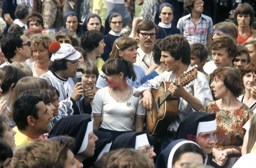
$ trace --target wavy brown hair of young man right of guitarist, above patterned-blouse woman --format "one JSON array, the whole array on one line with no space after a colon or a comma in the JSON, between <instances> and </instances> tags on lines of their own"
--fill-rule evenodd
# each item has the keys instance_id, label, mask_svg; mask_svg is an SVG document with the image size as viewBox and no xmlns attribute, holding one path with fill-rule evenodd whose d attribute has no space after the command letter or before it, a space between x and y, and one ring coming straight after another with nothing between
<instances>
[{"instance_id":1,"label":"wavy brown hair of young man right of guitarist, above patterned-blouse woman","mask_svg":"<svg viewBox=\"0 0 256 168\"><path fill-rule=\"evenodd\" d=\"M237 56L237 47L235 41L226 36L214 39L211 44L211 50L227 48L228 56L235 58Z\"/></svg>"}]
</instances>

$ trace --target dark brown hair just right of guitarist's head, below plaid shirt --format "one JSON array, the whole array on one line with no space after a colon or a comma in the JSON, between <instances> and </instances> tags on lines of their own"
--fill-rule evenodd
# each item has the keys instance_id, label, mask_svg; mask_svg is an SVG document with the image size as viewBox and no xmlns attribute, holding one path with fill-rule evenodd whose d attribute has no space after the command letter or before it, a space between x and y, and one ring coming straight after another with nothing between
<instances>
[{"instance_id":1,"label":"dark brown hair just right of guitarist's head, below plaid shirt","mask_svg":"<svg viewBox=\"0 0 256 168\"><path fill-rule=\"evenodd\" d=\"M199 57L200 62L207 60L208 57L208 51L205 45L202 43L193 43L190 45L191 48L191 55L196 55Z\"/></svg>"}]
</instances>

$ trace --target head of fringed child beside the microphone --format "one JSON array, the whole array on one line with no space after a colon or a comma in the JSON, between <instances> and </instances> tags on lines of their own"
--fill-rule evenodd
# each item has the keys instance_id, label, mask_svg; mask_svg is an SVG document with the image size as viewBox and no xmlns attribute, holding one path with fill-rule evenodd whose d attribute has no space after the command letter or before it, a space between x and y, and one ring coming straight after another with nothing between
<instances>
[{"instance_id":1,"label":"head of fringed child beside the microphone","mask_svg":"<svg viewBox=\"0 0 256 168\"><path fill-rule=\"evenodd\" d=\"M85 62L80 65L83 73L82 82L85 88L93 87L99 77L99 71L96 65L91 62Z\"/></svg>"}]
</instances>

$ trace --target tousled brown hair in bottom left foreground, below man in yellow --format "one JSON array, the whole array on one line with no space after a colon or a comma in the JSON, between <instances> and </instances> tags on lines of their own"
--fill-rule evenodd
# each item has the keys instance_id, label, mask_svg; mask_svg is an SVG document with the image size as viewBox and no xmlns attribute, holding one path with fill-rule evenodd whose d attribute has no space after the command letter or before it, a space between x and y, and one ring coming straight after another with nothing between
<instances>
[{"instance_id":1,"label":"tousled brown hair in bottom left foreground, below man in yellow","mask_svg":"<svg viewBox=\"0 0 256 168\"><path fill-rule=\"evenodd\" d=\"M18 146L13 152L13 167L65 167L69 147L74 141L72 137L62 136Z\"/></svg>"}]
</instances>

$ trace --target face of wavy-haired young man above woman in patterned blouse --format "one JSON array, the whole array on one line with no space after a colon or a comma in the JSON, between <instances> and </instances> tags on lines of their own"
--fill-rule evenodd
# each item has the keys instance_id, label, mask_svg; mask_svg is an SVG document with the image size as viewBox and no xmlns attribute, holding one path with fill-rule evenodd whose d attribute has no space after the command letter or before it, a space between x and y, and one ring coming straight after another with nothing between
<instances>
[{"instance_id":1,"label":"face of wavy-haired young man above woman in patterned blouse","mask_svg":"<svg viewBox=\"0 0 256 168\"><path fill-rule=\"evenodd\" d=\"M217 68L233 67L233 57L229 57L227 48L213 49L212 60Z\"/></svg>"}]
</instances>

